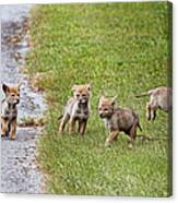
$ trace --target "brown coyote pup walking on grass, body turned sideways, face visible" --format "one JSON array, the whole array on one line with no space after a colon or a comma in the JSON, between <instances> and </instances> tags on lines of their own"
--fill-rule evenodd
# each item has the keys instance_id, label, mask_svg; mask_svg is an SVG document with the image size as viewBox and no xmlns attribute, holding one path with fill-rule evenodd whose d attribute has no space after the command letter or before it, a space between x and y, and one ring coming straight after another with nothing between
<instances>
[{"instance_id":1,"label":"brown coyote pup walking on grass, body turned sideways, face visible","mask_svg":"<svg viewBox=\"0 0 178 203\"><path fill-rule=\"evenodd\" d=\"M120 131L130 136L131 142L137 138L137 128L142 131L139 122L139 116L130 109L115 108L116 98L106 98L102 96L98 105L100 118L109 129L109 136L105 141L105 146L116 140Z\"/></svg>"}]
</instances>

